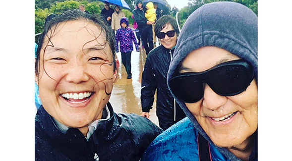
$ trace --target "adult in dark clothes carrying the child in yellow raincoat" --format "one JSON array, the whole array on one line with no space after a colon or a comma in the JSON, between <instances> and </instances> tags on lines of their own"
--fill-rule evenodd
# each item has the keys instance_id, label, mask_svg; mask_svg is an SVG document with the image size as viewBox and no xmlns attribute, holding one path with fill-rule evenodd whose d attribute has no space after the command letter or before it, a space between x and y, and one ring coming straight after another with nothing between
<instances>
[{"instance_id":1,"label":"adult in dark clothes carrying the child in yellow raincoat","mask_svg":"<svg viewBox=\"0 0 292 161\"><path fill-rule=\"evenodd\" d=\"M133 10L133 16L138 24L138 30L144 44L146 55L148 55L148 53L153 49L152 24L154 22L148 21L145 17L147 8L143 6L142 0L137 0L136 6L137 8Z\"/></svg>"}]
</instances>

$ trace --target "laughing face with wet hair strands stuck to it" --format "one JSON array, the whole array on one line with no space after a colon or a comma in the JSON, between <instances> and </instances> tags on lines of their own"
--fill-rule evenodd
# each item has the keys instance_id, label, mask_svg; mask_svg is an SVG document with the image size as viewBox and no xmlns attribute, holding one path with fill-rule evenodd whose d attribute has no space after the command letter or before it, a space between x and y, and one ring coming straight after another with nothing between
<instances>
[{"instance_id":1,"label":"laughing face with wet hair strands stuck to it","mask_svg":"<svg viewBox=\"0 0 292 161\"><path fill-rule=\"evenodd\" d=\"M55 31L54 31L55 30ZM101 118L116 73L105 33L94 23L59 23L40 52L37 81L43 107L59 122L82 128Z\"/></svg>"}]
</instances>

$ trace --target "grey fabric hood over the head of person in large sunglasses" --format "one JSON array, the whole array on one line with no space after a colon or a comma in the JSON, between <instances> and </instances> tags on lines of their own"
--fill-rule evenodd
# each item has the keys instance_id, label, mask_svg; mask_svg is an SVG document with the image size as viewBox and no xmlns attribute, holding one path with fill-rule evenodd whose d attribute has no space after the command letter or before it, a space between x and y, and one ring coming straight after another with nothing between
<instances>
[{"instance_id":1,"label":"grey fabric hood over the head of person in large sunglasses","mask_svg":"<svg viewBox=\"0 0 292 161\"><path fill-rule=\"evenodd\" d=\"M257 81L257 35L257 16L248 7L226 1L204 4L187 18L181 29L168 71L168 86L183 58L193 50L205 46L225 49L249 61ZM174 96L172 91L171 93ZM200 134L212 143L185 104L175 96L174 98Z\"/></svg>"}]
</instances>

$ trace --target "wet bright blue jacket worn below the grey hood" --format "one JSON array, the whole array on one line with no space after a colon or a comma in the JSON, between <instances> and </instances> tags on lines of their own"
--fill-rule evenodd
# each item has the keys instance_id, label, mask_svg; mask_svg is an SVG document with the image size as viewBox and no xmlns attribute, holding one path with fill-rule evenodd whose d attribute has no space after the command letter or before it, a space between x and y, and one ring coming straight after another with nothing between
<instances>
[{"instance_id":1,"label":"wet bright blue jacket worn below the grey hood","mask_svg":"<svg viewBox=\"0 0 292 161\"><path fill-rule=\"evenodd\" d=\"M185 117L160 134L149 145L141 161L199 161L197 137L198 130ZM209 145L212 161L231 161L218 150L219 147ZM257 161L255 151L249 161Z\"/></svg>"}]
</instances>

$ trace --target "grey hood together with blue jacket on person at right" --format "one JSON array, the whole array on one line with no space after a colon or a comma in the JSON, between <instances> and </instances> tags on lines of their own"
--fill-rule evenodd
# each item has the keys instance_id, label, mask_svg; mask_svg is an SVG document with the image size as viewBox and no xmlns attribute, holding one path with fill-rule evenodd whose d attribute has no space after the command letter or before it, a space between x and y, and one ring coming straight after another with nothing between
<instances>
[{"instance_id":1,"label":"grey hood together with blue jacket on person at right","mask_svg":"<svg viewBox=\"0 0 292 161\"><path fill-rule=\"evenodd\" d=\"M182 27L168 71L168 86L177 74L176 68L183 58L206 46L222 48L249 61L257 82L257 32L257 16L242 4L221 1L201 6L188 17ZM173 94L172 90L171 93ZM216 146L185 104L174 94L173 96L188 118L159 135L149 145L142 161L198 161L198 144L193 139L198 133L210 143L210 156L213 160L241 161L226 148ZM249 161L257 161L257 130L254 136L254 147Z\"/></svg>"}]
</instances>

